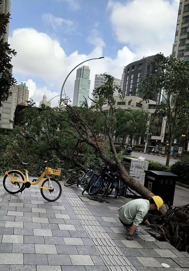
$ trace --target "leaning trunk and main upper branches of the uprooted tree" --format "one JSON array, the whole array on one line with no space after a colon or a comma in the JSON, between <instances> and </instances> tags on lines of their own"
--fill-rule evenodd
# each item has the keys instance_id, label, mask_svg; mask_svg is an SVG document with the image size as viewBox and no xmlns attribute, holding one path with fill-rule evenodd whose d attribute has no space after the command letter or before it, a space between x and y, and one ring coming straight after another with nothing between
<instances>
[{"instance_id":1,"label":"leaning trunk and main upper branches of the uprooted tree","mask_svg":"<svg viewBox=\"0 0 189 271\"><path fill-rule=\"evenodd\" d=\"M106 135L109 140L110 150L111 150L111 156L107 156L105 153L105 150L100 146L97 135L93 129L93 127L90 125L91 120L89 119L88 115L88 105L87 102L83 104L83 107L85 108L85 111L82 111L82 113L79 112L78 108L73 107L69 103L69 99L65 98L63 99L63 104L66 107L66 111L69 114L69 117L64 118L62 112L57 112L56 117L61 122L66 122L69 124L69 132L72 134L72 136L77 139L78 141L82 141L87 143L89 146L93 147L97 155L107 164L110 166L110 168L115 168L116 171L119 171L122 180L134 191L136 191L138 194L140 194L145 199L149 199L150 197L154 196L153 193L151 193L146 187L144 187L142 184L137 182L135 179L133 179L131 176L128 175L127 171L123 167L118 154L115 149L114 141L113 141L113 126L114 126L114 113L115 113L115 99L113 96L113 93L115 91L115 88L117 88L118 92L121 93L121 89L119 87L114 86L113 80L114 78L110 75L104 74L107 81L104 85L98 87L95 90L95 95L98 95L99 99L98 101L92 100L94 103L94 111L98 111L101 113L101 120L103 121L103 125L106 131ZM123 97L120 94L120 98L123 99ZM103 109L103 105L108 104L110 106L110 110L106 111ZM66 131L65 131L66 132ZM161 213L165 213L167 211L166 207L163 205L160 209Z\"/></svg>"}]
</instances>

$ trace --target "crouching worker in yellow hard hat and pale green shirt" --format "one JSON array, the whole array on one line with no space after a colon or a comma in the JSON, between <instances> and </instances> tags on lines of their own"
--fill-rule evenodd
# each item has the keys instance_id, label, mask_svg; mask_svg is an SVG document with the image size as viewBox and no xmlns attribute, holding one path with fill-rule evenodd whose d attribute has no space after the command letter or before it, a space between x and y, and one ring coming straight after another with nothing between
<instances>
[{"instance_id":1,"label":"crouching worker in yellow hard hat and pale green shirt","mask_svg":"<svg viewBox=\"0 0 189 271\"><path fill-rule=\"evenodd\" d=\"M163 200L159 196L151 197L147 199L134 199L126 203L119 208L118 214L119 219L123 226L127 227L129 234L127 240L133 240L133 234L139 233L139 225L144 222L147 226L154 228L153 224L148 221L148 211L149 210L159 210L163 205Z\"/></svg>"}]
</instances>

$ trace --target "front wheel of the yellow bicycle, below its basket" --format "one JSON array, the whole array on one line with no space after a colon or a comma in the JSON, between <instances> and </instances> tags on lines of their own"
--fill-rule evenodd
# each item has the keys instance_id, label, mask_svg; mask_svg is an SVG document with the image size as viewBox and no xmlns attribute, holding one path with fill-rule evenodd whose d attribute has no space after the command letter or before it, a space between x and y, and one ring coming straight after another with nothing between
<instances>
[{"instance_id":1,"label":"front wheel of the yellow bicycle, below its basket","mask_svg":"<svg viewBox=\"0 0 189 271\"><path fill-rule=\"evenodd\" d=\"M48 201L56 201L62 194L62 187L59 181L57 181L56 179L50 178L50 181L52 183L53 190L41 188L40 189L41 195L43 196L44 199ZM49 179L44 180L41 186L50 188L51 187L50 181Z\"/></svg>"}]
</instances>

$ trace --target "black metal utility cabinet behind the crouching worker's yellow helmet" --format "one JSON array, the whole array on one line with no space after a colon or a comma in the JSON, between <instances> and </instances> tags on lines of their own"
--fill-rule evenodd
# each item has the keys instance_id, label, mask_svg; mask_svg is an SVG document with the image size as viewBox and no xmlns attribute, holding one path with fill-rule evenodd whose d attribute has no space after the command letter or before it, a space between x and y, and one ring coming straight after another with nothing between
<instances>
[{"instance_id":1,"label":"black metal utility cabinet behind the crouching worker's yellow helmet","mask_svg":"<svg viewBox=\"0 0 189 271\"><path fill-rule=\"evenodd\" d=\"M178 176L164 171L145 171L144 186L154 195L160 196L168 206L173 205L175 184Z\"/></svg>"}]
</instances>

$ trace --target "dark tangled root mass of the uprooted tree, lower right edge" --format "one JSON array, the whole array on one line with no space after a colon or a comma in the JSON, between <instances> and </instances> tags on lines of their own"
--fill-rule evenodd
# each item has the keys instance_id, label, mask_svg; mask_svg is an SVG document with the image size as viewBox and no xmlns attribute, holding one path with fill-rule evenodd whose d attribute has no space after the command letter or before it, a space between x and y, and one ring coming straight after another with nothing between
<instances>
[{"instance_id":1,"label":"dark tangled root mass of the uprooted tree, lower right edge","mask_svg":"<svg viewBox=\"0 0 189 271\"><path fill-rule=\"evenodd\" d=\"M172 246L179 251L189 252L189 208L167 216L161 230L166 241Z\"/></svg>"}]
</instances>

